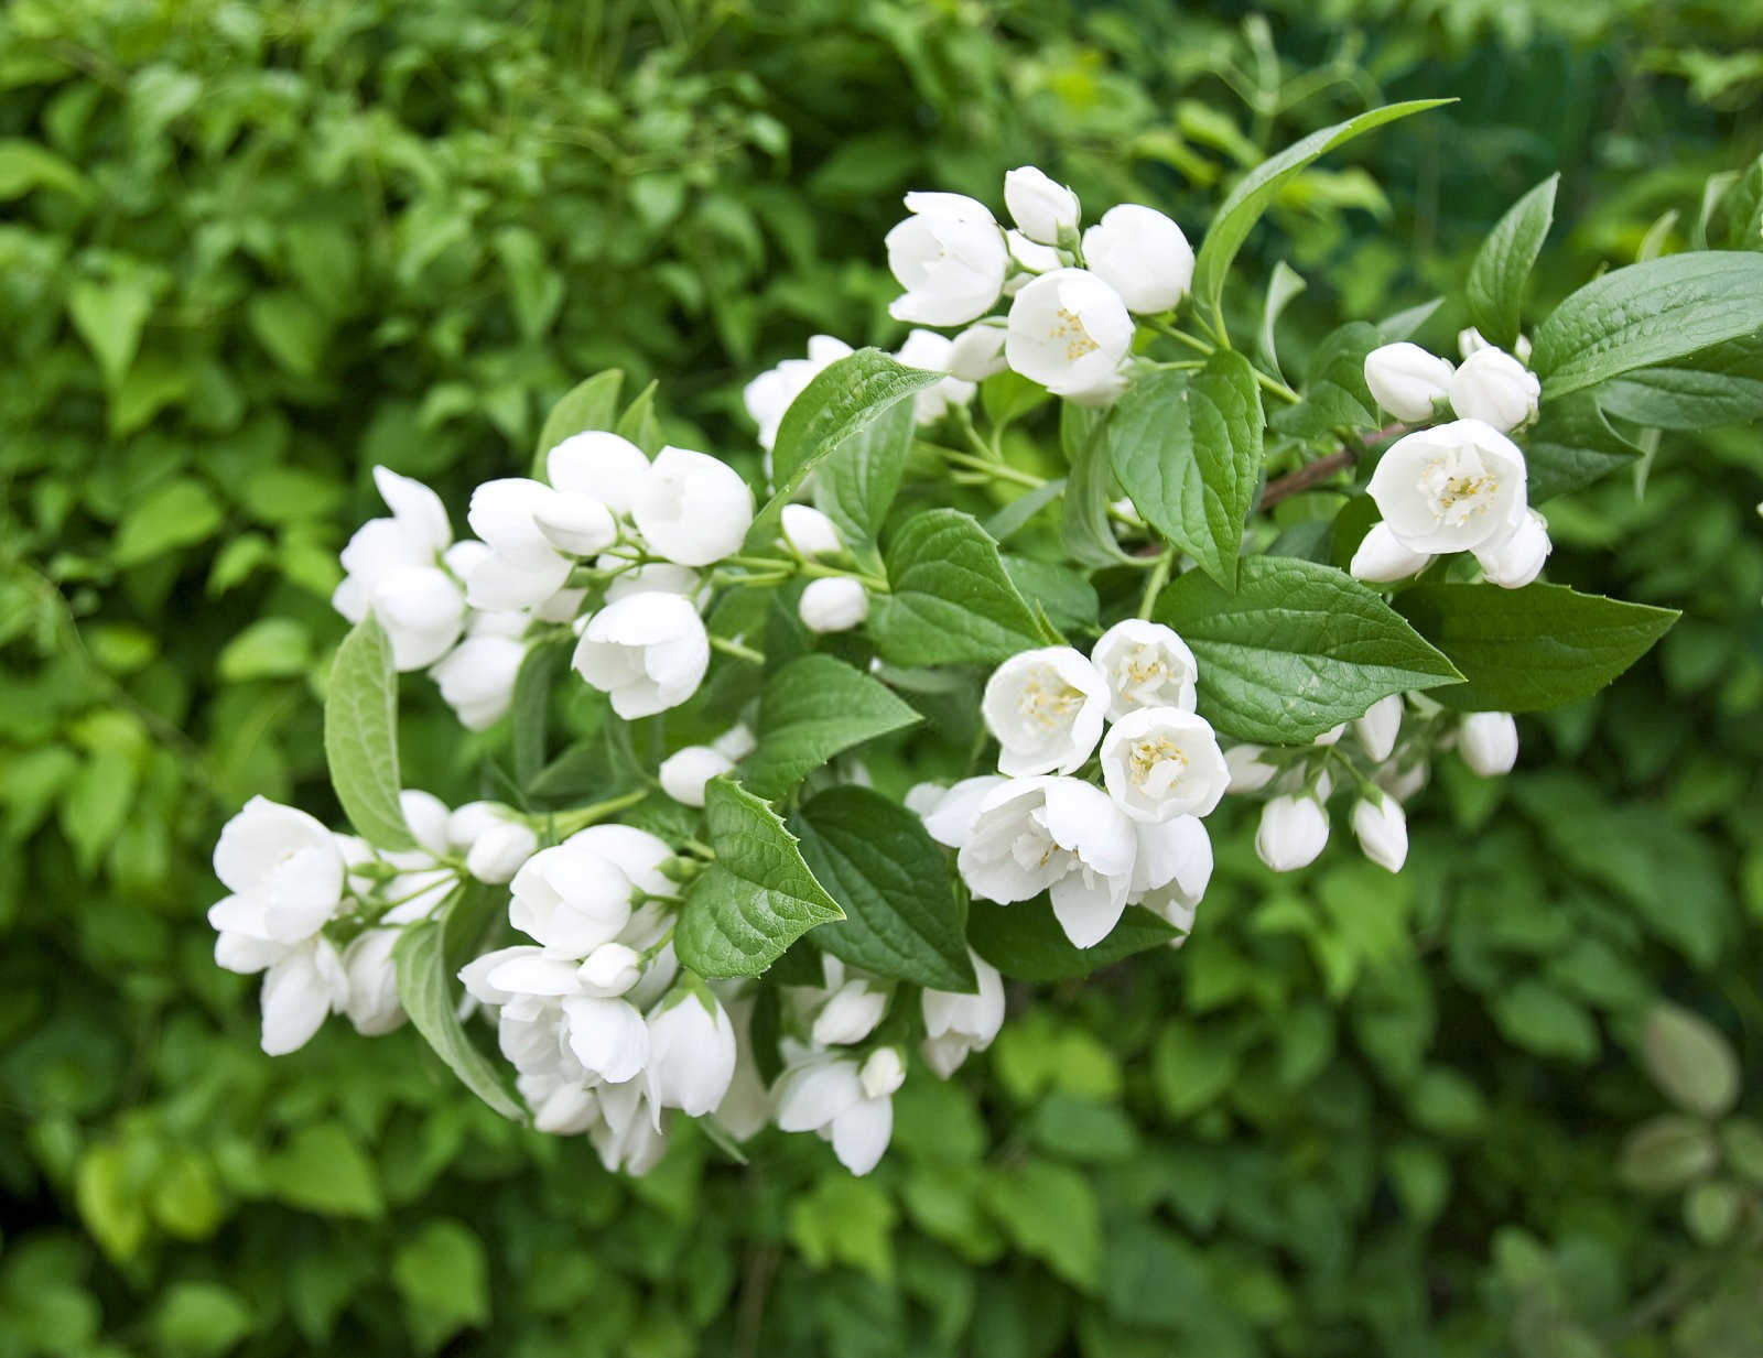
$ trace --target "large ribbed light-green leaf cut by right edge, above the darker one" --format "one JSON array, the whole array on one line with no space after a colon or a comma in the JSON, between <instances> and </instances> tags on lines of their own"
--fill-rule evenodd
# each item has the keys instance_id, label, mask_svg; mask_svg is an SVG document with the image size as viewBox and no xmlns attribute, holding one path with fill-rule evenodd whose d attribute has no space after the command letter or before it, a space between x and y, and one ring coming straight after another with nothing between
<instances>
[{"instance_id":1,"label":"large ribbed light-green leaf cut by right edge, above the darker one","mask_svg":"<svg viewBox=\"0 0 1763 1358\"><path fill-rule=\"evenodd\" d=\"M1629 264L1573 292L1537 326L1543 403L1634 368L1754 335L1763 255L1701 250Z\"/></svg>"}]
</instances>

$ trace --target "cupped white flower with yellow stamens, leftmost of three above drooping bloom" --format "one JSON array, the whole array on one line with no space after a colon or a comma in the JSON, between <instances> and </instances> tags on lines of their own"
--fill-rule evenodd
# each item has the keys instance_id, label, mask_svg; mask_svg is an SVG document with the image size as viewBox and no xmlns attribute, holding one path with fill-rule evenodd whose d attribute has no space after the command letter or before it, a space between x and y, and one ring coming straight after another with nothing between
<instances>
[{"instance_id":1,"label":"cupped white flower with yellow stamens, leftmost of three above drooping bloom","mask_svg":"<svg viewBox=\"0 0 1763 1358\"><path fill-rule=\"evenodd\" d=\"M1109 685L1081 652L1042 646L1012 655L986 682L980 712L1012 777L1072 773L1102 736Z\"/></svg>"}]
</instances>

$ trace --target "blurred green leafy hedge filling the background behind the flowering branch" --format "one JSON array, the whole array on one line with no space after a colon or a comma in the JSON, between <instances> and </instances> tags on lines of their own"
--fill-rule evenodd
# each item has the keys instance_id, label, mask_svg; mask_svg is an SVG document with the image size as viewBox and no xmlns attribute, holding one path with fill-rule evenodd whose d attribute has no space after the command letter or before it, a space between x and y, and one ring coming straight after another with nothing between
<instances>
[{"instance_id":1,"label":"blurred green leafy hedge filling the background behind the flowering branch","mask_svg":"<svg viewBox=\"0 0 1763 1358\"><path fill-rule=\"evenodd\" d=\"M1708 1244L1617 1173L1666 1108L1655 997L1763 1064L1754 430L1551 507L1557 579L1685 618L1527 724L1513 779L1440 766L1407 875L1336 844L1275 879L1222 826L1192 944L913 1080L871 1178L807 1138L612 1178L409 1034L264 1059L212 963L224 816L328 796L314 685L372 463L462 509L614 365L751 456L746 377L818 329L897 342L908 187L994 201L1033 160L1199 234L1268 150L1460 97L1252 240L1241 268L1310 280L1291 363L1453 292L1555 169L1560 296L1689 240L1759 150L1758 0L1262 9L0 11L0 1354L1759 1351L1754 1182ZM409 699L413 782L474 793L472 740Z\"/></svg>"}]
</instances>

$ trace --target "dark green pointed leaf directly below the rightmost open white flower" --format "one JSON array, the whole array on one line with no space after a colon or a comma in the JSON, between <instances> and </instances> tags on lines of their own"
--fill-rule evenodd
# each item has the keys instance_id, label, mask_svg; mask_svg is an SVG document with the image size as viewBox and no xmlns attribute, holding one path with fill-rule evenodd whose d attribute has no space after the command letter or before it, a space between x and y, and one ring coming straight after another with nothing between
<instances>
[{"instance_id":1,"label":"dark green pointed leaf directly below the rightmost open white flower","mask_svg":"<svg viewBox=\"0 0 1763 1358\"><path fill-rule=\"evenodd\" d=\"M1678 616L1566 585L1417 585L1395 604L1462 671L1465 683L1433 694L1462 712L1544 712L1590 697Z\"/></svg>"}]
</instances>

